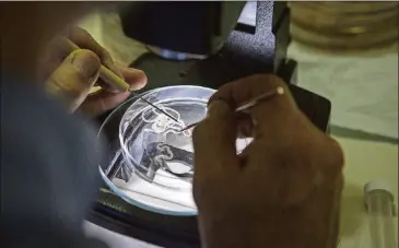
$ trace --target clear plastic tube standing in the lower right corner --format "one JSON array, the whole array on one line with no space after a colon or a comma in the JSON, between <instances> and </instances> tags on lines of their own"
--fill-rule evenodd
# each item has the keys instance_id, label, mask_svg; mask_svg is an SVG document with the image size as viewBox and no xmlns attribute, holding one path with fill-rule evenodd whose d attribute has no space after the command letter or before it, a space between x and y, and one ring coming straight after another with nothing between
<instances>
[{"instance_id":1,"label":"clear plastic tube standing in the lower right corner","mask_svg":"<svg viewBox=\"0 0 399 248\"><path fill-rule=\"evenodd\" d=\"M394 194L386 184L371 181L365 187L365 203L373 248L397 248L394 224Z\"/></svg>"}]
</instances>

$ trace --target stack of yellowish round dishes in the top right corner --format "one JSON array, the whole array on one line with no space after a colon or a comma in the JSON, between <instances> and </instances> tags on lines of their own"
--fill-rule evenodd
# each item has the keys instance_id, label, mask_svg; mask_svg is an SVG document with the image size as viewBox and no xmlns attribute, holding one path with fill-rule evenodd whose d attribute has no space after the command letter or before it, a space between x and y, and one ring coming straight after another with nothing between
<instances>
[{"instance_id":1,"label":"stack of yellowish round dishes in the top right corner","mask_svg":"<svg viewBox=\"0 0 399 248\"><path fill-rule=\"evenodd\" d=\"M328 52L389 48L398 40L398 2L290 1L293 40Z\"/></svg>"}]
</instances>

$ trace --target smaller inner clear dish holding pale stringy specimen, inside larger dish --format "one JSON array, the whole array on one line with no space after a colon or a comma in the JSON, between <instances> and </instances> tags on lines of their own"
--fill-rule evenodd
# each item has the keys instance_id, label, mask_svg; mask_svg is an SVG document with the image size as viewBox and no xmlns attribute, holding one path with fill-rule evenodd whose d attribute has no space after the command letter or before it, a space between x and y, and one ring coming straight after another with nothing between
<instances>
[{"instance_id":1,"label":"smaller inner clear dish holding pale stringy specimen, inside larger dish","mask_svg":"<svg viewBox=\"0 0 399 248\"><path fill-rule=\"evenodd\" d=\"M204 87L162 87L144 96L178 121L141 99L134 102L119 126L120 145L128 166L151 184L190 190L189 177L179 176L192 173L191 130L179 130L204 118L207 102L213 92ZM163 174L165 170L167 173Z\"/></svg>"}]
</instances>

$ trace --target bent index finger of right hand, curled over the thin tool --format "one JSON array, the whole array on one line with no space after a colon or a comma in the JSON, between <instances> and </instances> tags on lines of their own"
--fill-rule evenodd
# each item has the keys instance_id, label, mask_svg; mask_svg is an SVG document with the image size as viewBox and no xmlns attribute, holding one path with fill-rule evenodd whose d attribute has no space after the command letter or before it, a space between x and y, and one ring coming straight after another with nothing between
<instances>
[{"instance_id":1,"label":"bent index finger of right hand, curled over the thin tool","mask_svg":"<svg viewBox=\"0 0 399 248\"><path fill-rule=\"evenodd\" d=\"M247 110L255 122L255 134L267 130L275 132L280 129L281 123L287 120L287 117L297 111L297 107L286 84L273 74L251 75L225 84L210 98L209 104L213 101L224 99L236 108L243 103L262 93L275 91L278 87L283 87L284 94L270 101L259 102Z\"/></svg>"}]
</instances>

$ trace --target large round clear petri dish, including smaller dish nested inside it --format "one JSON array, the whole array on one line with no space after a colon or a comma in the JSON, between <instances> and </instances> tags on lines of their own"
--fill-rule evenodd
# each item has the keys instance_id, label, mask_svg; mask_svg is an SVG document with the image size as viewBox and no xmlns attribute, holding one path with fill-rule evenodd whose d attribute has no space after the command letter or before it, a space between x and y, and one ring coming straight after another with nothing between
<instances>
[{"instance_id":1,"label":"large round clear petri dish, including smaller dish nested inside it","mask_svg":"<svg viewBox=\"0 0 399 248\"><path fill-rule=\"evenodd\" d=\"M206 117L208 99L214 92L180 85L140 95L177 121L139 96L116 108L98 133L108 138L106 160L99 165L106 185L141 209L167 215L196 215L191 130L179 130ZM248 143L248 139L237 140L237 151Z\"/></svg>"}]
</instances>

